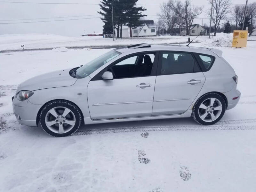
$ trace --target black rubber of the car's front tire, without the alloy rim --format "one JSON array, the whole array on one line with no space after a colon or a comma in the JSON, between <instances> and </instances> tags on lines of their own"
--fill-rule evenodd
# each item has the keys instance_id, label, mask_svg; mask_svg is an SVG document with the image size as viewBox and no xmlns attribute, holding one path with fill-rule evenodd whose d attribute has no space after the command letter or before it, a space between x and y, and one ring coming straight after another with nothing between
<instances>
[{"instance_id":1,"label":"black rubber of the car's front tire, without the alloy rim","mask_svg":"<svg viewBox=\"0 0 256 192\"><path fill-rule=\"evenodd\" d=\"M51 130L49 130L48 127L46 126L45 116L46 116L47 112L54 107L66 107L74 113L74 115L76 117L76 123L75 123L74 127L69 132L55 133L55 132L52 132ZM42 128L44 129L44 131L46 133L48 133L54 137L65 137L65 136L71 135L72 133L76 132L76 130L80 127L81 122L82 122L82 115L81 115L80 109L73 103L66 101L66 100L55 100L55 101L49 102L48 104L46 104L44 106L44 108L42 109L41 114L40 114L40 124L41 124Z\"/></svg>"}]
</instances>

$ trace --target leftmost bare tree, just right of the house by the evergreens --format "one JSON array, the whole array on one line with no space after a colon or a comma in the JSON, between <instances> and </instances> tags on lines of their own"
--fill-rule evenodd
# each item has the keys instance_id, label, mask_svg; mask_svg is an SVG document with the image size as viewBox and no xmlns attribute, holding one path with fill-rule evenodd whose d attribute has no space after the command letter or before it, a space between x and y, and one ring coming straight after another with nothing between
<instances>
[{"instance_id":1,"label":"leftmost bare tree, just right of the house by the evergreens","mask_svg":"<svg viewBox=\"0 0 256 192\"><path fill-rule=\"evenodd\" d=\"M164 24L167 26L167 29L170 30L170 32L173 31L173 28L175 27L177 23L177 15L172 10L170 1L167 3L163 3L160 6L160 13L157 13L157 15L163 20Z\"/></svg>"}]
</instances>

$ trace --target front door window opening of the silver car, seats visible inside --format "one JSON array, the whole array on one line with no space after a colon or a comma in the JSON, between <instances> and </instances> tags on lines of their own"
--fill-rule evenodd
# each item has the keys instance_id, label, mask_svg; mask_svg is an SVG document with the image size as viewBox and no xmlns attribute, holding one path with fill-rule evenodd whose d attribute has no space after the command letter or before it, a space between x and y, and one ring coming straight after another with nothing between
<instances>
[{"instance_id":1,"label":"front door window opening of the silver car, seats visible inside","mask_svg":"<svg viewBox=\"0 0 256 192\"><path fill-rule=\"evenodd\" d=\"M150 76L154 60L155 53L137 54L119 61L108 71L113 73L114 79Z\"/></svg>"}]
</instances>

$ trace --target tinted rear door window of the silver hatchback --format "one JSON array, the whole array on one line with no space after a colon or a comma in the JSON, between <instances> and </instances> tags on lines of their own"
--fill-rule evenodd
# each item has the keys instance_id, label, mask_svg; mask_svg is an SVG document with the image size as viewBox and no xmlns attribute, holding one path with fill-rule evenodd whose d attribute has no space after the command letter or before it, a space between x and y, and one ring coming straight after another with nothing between
<instances>
[{"instance_id":1,"label":"tinted rear door window of the silver hatchback","mask_svg":"<svg viewBox=\"0 0 256 192\"><path fill-rule=\"evenodd\" d=\"M161 75L193 73L200 69L190 53L163 52Z\"/></svg>"}]
</instances>

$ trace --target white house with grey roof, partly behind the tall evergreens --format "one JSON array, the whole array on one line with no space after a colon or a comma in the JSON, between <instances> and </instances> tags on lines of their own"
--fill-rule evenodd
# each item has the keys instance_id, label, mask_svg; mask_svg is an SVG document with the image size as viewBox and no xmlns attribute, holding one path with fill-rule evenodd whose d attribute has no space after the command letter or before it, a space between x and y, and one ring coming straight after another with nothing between
<instances>
[{"instance_id":1,"label":"white house with grey roof, partly behind the tall evergreens","mask_svg":"<svg viewBox=\"0 0 256 192\"><path fill-rule=\"evenodd\" d=\"M115 33L117 34L116 29ZM143 20L141 26L132 28L132 37L138 36L156 36L156 25L154 20ZM130 37L129 27L122 27L122 37Z\"/></svg>"}]
</instances>

